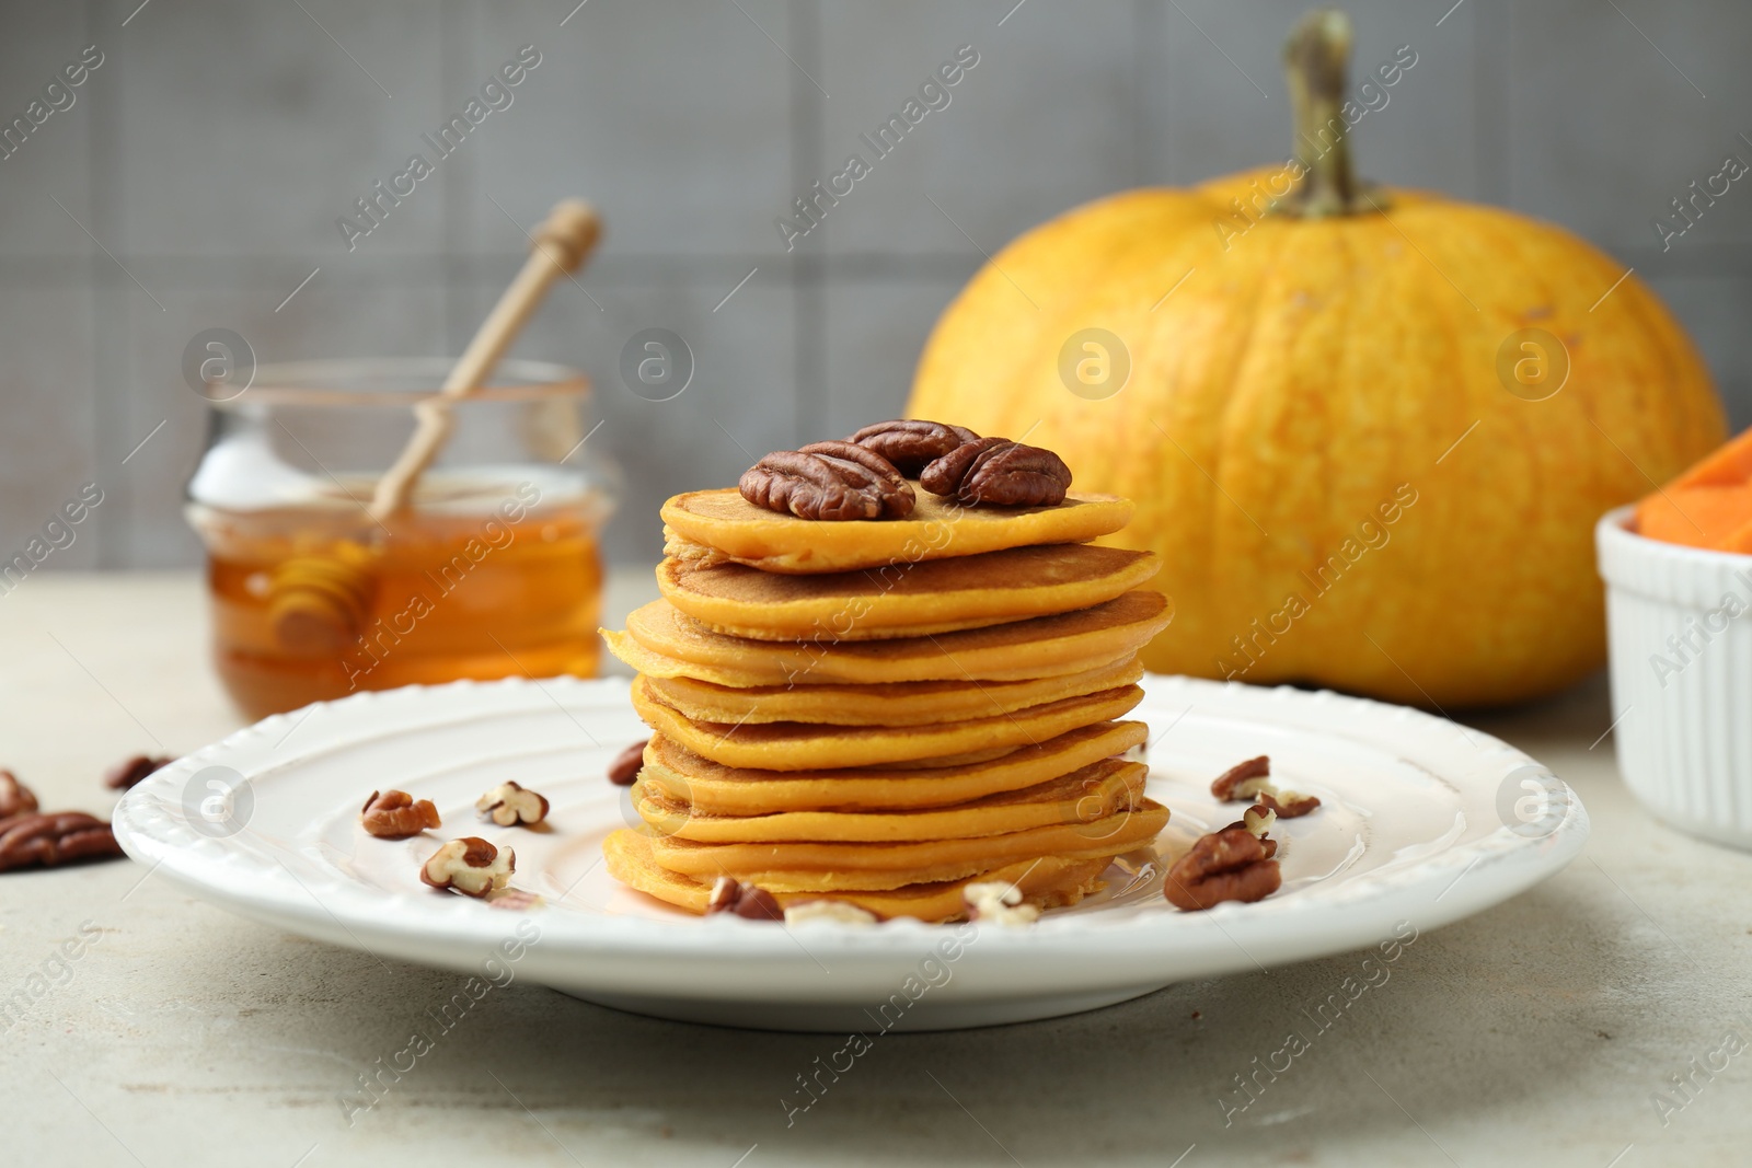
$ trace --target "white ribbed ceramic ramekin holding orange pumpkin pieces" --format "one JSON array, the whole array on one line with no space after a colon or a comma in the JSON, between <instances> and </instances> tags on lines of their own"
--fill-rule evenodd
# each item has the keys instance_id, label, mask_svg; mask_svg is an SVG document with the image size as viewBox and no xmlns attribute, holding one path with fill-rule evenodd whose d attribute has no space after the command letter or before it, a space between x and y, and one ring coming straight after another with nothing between
<instances>
[{"instance_id":1,"label":"white ribbed ceramic ramekin holding orange pumpkin pieces","mask_svg":"<svg viewBox=\"0 0 1752 1168\"><path fill-rule=\"evenodd\" d=\"M1594 527L1612 714L1631 793L1673 827L1752 848L1752 555Z\"/></svg>"}]
</instances>

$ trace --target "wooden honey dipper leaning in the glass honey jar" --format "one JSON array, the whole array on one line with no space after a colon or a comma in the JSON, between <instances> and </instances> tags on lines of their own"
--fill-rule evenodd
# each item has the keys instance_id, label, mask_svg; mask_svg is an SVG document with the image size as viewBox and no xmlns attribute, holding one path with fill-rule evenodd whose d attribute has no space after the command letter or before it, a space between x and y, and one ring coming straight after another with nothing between
<instances>
[{"instance_id":1,"label":"wooden honey dipper leaning in the glass honey jar","mask_svg":"<svg viewBox=\"0 0 1752 1168\"><path fill-rule=\"evenodd\" d=\"M601 233L596 210L583 200L554 205L536 228L529 259L475 331L438 396L413 408L419 419L413 436L377 480L368 508L373 522L384 524L408 506L420 475L456 427L456 403L480 389L554 280L576 271ZM352 644L364 632L377 595L371 559L371 550L342 543L331 552L282 560L268 580L268 620L280 648L329 655Z\"/></svg>"}]
</instances>

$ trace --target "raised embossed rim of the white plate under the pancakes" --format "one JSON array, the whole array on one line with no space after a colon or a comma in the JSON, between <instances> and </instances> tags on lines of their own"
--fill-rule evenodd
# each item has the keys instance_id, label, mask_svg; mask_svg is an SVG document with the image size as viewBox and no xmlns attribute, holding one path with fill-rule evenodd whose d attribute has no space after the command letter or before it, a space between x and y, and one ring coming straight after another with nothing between
<instances>
[{"instance_id":1,"label":"raised embossed rim of the white plate under the pancakes","mask_svg":"<svg viewBox=\"0 0 1752 1168\"><path fill-rule=\"evenodd\" d=\"M1188 707L1216 706L1223 713L1235 716L1254 716L1256 711L1279 707L1316 707L1325 713L1347 711L1368 721L1386 720L1402 723L1403 732L1447 732L1466 739L1466 749L1473 755L1496 756L1507 767L1537 765L1547 774L1549 767L1538 763L1524 751L1508 746L1494 735L1480 730L1459 727L1458 723L1428 714L1407 706L1393 706L1365 697L1335 693L1332 690L1298 690L1293 686L1254 686L1237 681L1209 681L1179 674L1146 674L1146 706L1169 693L1183 693ZM447 704L457 704L457 711L471 704L496 699L517 699L531 709L559 704L569 711L578 704L603 700L625 702L629 679L625 678L505 678L496 681L452 681L431 686L401 686L396 690L359 692L329 702L314 702L298 711L272 714L258 723L235 730L233 734L203 746L182 758L168 763L133 790L117 804L112 816L116 839L123 849L137 862L163 870L186 890L217 902L223 907L242 911L256 919L273 918L279 921L305 921L312 928L328 930L329 923L342 925L350 935L349 925L373 933L398 935L412 944L431 944L434 940L473 946L491 944L503 939L522 914L517 912L482 912L482 905L463 897L410 897L406 893L384 893L382 890L349 881L342 872L321 883L308 883L291 872L284 863L279 870L259 863L256 853L233 844L237 837L212 839L189 830L177 821L172 811L182 811L177 792L187 777L200 769L215 765L226 756L259 748L266 735L284 735L294 718L301 723L322 709L340 711L343 716L370 718L387 706L408 706L419 709L433 706L436 714ZM508 697L506 697L508 695ZM512 702L513 706L517 702ZM1148 716L1148 714L1146 714ZM1281 725L1307 727L1305 718L1272 720ZM1333 727L1323 727L1323 734L1339 734ZM1342 734L1353 741L1370 742L1368 735ZM1374 746L1384 748L1386 732L1374 739ZM273 748L277 749L277 748ZM275 763L280 770L296 765L300 755ZM1407 760L1410 762L1410 760ZM1421 763L1412 763L1419 765ZM1426 769L1426 767L1424 767ZM258 769L261 774L266 769ZM254 777L247 774L245 777ZM1437 776L1452 783L1452 777ZM1556 776L1554 776L1556 777ZM1465 876L1473 869L1496 870L1493 881L1475 881L1466 895L1458 895L1447 905L1442 897L1424 905L1419 912L1419 925L1437 928L1486 907L1500 904L1519 891L1559 872L1586 844L1589 835L1589 818L1580 797L1563 779L1556 779L1566 792L1566 814L1558 827L1542 835L1521 835L1507 825L1466 842L1454 842L1442 851L1416 860L1393 870L1370 870L1323 888L1314 886L1300 895L1268 898L1258 904L1225 904L1207 912L1163 912L1163 914L1049 914L1034 928L985 930L981 940L985 953L1030 953L1039 949L1058 949L1062 946L1095 946L1102 951L1179 951L1200 949L1216 940L1233 946L1230 925L1249 921L1281 921L1293 918L1289 928L1298 933L1312 933L1318 939L1339 942L1356 935L1360 919L1375 921L1375 912L1361 912L1349 919L1360 905L1379 905L1403 898L1419 898L1419 890L1426 877L1444 870ZM247 828L238 835L247 834ZM1508 869L1508 870L1505 870ZM1458 884L1459 876L1447 888ZM1332 919L1328 919L1332 918ZM675 958L697 956L703 942L711 946L713 956L722 960L774 960L797 956L795 944L774 935L774 930L738 928L739 921L729 918L687 921L678 928L678 921L655 918L622 916L590 912L573 907L569 911L545 909L541 912L543 949L569 951L573 954L625 956L625 958ZM925 925L909 918L885 923L881 928L809 928L809 953L829 956L857 954L916 954L922 944L943 935L944 926ZM794 930L787 930L794 932ZM1375 928L1374 932L1379 932ZM363 946L363 942L359 942ZM1305 958L1342 953L1354 944L1312 944L1302 946ZM1246 968L1246 963L1240 965Z\"/></svg>"}]
</instances>

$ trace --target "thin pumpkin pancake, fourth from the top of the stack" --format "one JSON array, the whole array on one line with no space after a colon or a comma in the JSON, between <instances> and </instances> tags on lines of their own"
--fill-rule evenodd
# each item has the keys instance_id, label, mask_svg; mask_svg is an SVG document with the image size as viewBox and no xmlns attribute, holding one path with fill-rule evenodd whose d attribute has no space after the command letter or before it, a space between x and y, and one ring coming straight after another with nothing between
<instances>
[{"instance_id":1,"label":"thin pumpkin pancake, fourth from the top of the stack","mask_svg":"<svg viewBox=\"0 0 1752 1168\"><path fill-rule=\"evenodd\" d=\"M1034 681L894 681L888 685L767 685L738 690L689 678L646 678L645 688L692 721L820 721L846 727L916 727L1009 714L1081 697L1144 676L1135 657L1102 669Z\"/></svg>"}]
</instances>

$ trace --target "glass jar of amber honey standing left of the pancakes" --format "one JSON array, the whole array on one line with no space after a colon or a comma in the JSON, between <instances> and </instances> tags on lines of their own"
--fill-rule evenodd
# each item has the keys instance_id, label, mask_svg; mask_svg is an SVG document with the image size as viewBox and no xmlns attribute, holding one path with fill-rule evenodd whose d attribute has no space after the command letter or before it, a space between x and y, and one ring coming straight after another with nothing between
<instances>
[{"instance_id":1,"label":"glass jar of amber honey standing left of the pancakes","mask_svg":"<svg viewBox=\"0 0 1752 1168\"><path fill-rule=\"evenodd\" d=\"M456 401L408 504L378 475L445 359L261 366L212 401L187 518L207 545L214 662L252 718L356 690L594 676L611 462L587 454L578 369L503 361Z\"/></svg>"}]
</instances>

